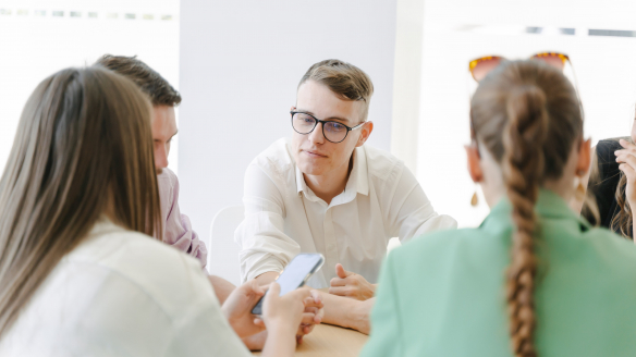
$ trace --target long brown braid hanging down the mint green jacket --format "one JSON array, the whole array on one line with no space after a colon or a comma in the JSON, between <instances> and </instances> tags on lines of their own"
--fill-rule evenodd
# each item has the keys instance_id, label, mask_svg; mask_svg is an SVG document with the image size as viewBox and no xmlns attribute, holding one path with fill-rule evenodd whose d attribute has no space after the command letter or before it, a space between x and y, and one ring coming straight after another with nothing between
<instances>
[{"instance_id":1,"label":"long brown braid hanging down the mint green jacket","mask_svg":"<svg viewBox=\"0 0 636 357\"><path fill-rule=\"evenodd\" d=\"M533 293L537 259L533 234L536 230L535 204L543 177L549 115L546 95L535 85L513 88L506 101L507 124L503 131L503 176L512 202L512 260L507 269L507 306L512 347L517 357L537 356Z\"/></svg>"}]
</instances>

